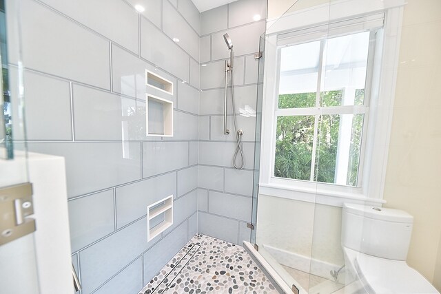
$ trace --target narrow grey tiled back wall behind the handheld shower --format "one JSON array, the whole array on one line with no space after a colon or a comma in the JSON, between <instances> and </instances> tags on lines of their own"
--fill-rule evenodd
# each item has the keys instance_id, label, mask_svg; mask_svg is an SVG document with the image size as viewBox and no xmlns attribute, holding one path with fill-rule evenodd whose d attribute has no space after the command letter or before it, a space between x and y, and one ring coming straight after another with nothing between
<instances>
[{"instance_id":1,"label":"narrow grey tiled back wall behind the handheld shower","mask_svg":"<svg viewBox=\"0 0 441 294\"><path fill-rule=\"evenodd\" d=\"M250 241L253 207L254 149L258 109L258 60L260 35L265 32L267 1L240 0L201 13L201 89L199 103L199 202L200 233L242 244ZM260 16L256 21L254 17ZM223 39L228 33L234 45L234 98L227 103L227 128L223 134L224 66L229 50ZM245 168L234 169L236 151L233 124L243 129Z\"/></svg>"}]
</instances>

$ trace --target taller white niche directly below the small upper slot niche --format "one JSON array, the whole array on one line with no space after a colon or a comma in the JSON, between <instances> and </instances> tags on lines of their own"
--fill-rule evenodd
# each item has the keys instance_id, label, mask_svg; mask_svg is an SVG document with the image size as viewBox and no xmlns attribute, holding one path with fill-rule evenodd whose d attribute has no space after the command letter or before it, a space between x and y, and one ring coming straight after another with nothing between
<instances>
[{"instance_id":1,"label":"taller white niche directly below the small upper slot niche","mask_svg":"<svg viewBox=\"0 0 441 294\"><path fill-rule=\"evenodd\" d=\"M150 94L146 96L147 136L173 136L173 102Z\"/></svg>"}]
</instances>

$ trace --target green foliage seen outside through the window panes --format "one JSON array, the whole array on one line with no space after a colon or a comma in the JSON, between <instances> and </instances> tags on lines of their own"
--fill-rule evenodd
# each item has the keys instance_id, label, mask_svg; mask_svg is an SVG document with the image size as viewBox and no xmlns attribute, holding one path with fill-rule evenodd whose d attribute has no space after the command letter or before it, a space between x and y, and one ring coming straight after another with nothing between
<instances>
[{"instance_id":1,"label":"green foliage seen outside through the window panes","mask_svg":"<svg viewBox=\"0 0 441 294\"><path fill-rule=\"evenodd\" d=\"M356 90L355 105L362 105L364 90ZM279 95L279 108L314 107L316 93ZM340 106L342 91L320 93L320 105ZM318 120L316 158L312 158L314 116L279 116L276 129L274 176L296 180L311 180L314 160L314 181L335 182L340 115L322 115ZM356 186L362 139L363 114L353 115L347 185Z\"/></svg>"}]
</instances>

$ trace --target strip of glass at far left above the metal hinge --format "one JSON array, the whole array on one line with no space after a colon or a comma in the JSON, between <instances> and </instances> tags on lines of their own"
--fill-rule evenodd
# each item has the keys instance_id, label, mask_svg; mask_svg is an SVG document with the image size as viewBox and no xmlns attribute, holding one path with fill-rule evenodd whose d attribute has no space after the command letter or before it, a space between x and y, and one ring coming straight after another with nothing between
<instances>
[{"instance_id":1,"label":"strip of glass at far left above the metal hinge","mask_svg":"<svg viewBox=\"0 0 441 294\"><path fill-rule=\"evenodd\" d=\"M0 1L0 187L28 182L19 1Z\"/></svg>"}]
</instances>

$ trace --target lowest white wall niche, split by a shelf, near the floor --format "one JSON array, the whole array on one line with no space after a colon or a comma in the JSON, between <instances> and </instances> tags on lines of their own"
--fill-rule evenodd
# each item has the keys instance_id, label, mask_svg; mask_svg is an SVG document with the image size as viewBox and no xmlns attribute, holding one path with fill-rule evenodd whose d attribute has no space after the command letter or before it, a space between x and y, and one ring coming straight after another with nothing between
<instances>
[{"instance_id":1,"label":"lowest white wall niche, split by a shelf, near the floor","mask_svg":"<svg viewBox=\"0 0 441 294\"><path fill-rule=\"evenodd\" d=\"M155 224L156 218L162 221ZM173 195L170 195L158 202L154 202L147 207L147 242L150 242L157 235L165 231L173 224Z\"/></svg>"}]
</instances>

